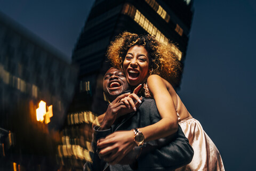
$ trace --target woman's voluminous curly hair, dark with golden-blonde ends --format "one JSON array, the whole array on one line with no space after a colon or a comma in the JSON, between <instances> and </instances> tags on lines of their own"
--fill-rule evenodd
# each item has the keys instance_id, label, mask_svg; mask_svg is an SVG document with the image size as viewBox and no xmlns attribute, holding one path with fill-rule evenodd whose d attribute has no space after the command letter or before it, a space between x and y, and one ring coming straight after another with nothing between
<instances>
[{"instance_id":1,"label":"woman's voluminous curly hair, dark with golden-blonde ends","mask_svg":"<svg viewBox=\"0 0 256 171\"><path fill-rule=\"evenodd\" d=\"M151 74L157 74L169 82L179 75L181 67L174 53L174 44L163 44L158 42L155 36L137 35L126 31L117 36L108 47L107 57L111 64L116 68L122 68L127 51L134 45L146 48L150 55L149 68L153 69Z\"/></svg>"}]
</instances>

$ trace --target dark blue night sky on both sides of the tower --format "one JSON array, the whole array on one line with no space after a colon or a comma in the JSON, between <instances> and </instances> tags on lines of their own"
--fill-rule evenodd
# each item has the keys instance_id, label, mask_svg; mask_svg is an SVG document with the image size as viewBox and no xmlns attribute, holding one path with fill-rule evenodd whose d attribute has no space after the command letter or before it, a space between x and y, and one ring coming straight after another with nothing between
<instances>
[{"instance_id":1,"label":"dark blue night sky on both sides of the tower","mask_svg":"<svg viewBox=\"0 0 256 171\"><path fill-rule=\"evenodd\" d=\"M90 1L0 0L0 11L71 61ZM256 170L256 1L195 0L181 89L226 170Z\"/></svg>"}]
</instances>

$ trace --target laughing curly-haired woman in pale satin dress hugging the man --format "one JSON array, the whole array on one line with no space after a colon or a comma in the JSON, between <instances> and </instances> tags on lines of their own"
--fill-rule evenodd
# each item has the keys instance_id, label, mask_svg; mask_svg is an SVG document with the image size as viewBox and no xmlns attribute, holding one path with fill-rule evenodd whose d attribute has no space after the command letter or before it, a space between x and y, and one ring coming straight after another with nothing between
<instances>
[{"instance_id":1,"label":"laughing curly-haired woman in pale satin dress hugging the man","mask_svg":"<svg viewBox=\"0 0 256 171\"><path fill-rule=\"evenodd\" d=\"M145 141L156 140L177 131L178 122L194 149L194 157L189 165L177 170L224 170L218 149L203 131L199 121L194 119L181 102L169 83L179 74L179 61L173 53L173 44L157 42L153 36L139 36L124 32L108 48L108 58L115 67L123 68L129 84L133 87L143 84L143 94L153 97L162 120L139 130ZM169 81L169 82L168 82ZM126 100L123 102L128 105ZM113 133L98 142L98 147L106 142L119 141L120 148L133 143L134 134L129 131ZM120 143L122 142L122 143ZM124 145L123 145L124 144ZM118 157L118 154L115 154Z\"/></svg>"}]
</instances>

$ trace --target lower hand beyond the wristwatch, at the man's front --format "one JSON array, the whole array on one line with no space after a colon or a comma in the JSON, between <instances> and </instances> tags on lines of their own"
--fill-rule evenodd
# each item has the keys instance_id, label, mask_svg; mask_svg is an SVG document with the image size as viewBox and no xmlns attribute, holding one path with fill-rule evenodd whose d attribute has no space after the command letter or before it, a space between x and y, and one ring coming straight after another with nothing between
<instances>
[{"instance_id":1,"label":"lower hand beyond the wristwatch, at the man's front","mask_svg":"<svg viewBox=\"0 0 256 171\"><path fill-rule=\"evenodd\" d=\"M110 165L118 164L136 146L133 139L132 131L117 131L98 140L99 157Z\"/></svg>"}]
</instances>

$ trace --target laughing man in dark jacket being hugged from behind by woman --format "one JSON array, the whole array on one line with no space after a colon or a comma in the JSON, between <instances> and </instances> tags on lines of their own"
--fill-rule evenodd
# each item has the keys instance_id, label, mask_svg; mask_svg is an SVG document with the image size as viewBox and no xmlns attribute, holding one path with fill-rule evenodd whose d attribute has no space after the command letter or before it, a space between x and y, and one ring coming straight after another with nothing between
<instances>
[{"instance_id":1,"label":"laughing man in dark jacket being hugged from behind by woman","mask_svg":"<svg viewBox=\"0 0 256 171\"><path fill-rule=\"evenodd\" d=\"M143 143L143 135L137 132L136 128L154 124L161 117L154 99L139 99L136 95L127 97L129 93L120 95L127 89L129 85L124 73L117 68L110 68L103 78L103 90L111 103L101 127L93 128L91 145L93 152L90 152L92 163L86 162L84 170L172 170L188 164L193 158L194 151L180 127L175 135ZM122 101L124 97L125 100ZM135 104L131 101L134 99L137 100ZM142 100L141 104L140 100ZM127 102L130 102L131 106L127 105ZM127 110L130 113L122 116L122 113L124 114ZM98 142L101 149L97 148L99 139L115 134L122 135L122 130L130 131L131 129L134 129L134 142L139 146L135 146L126 156L113 157L122 144L118 146L115 143L109 143L108 146L100 146Z\"/></svg>"}]
</instances>

